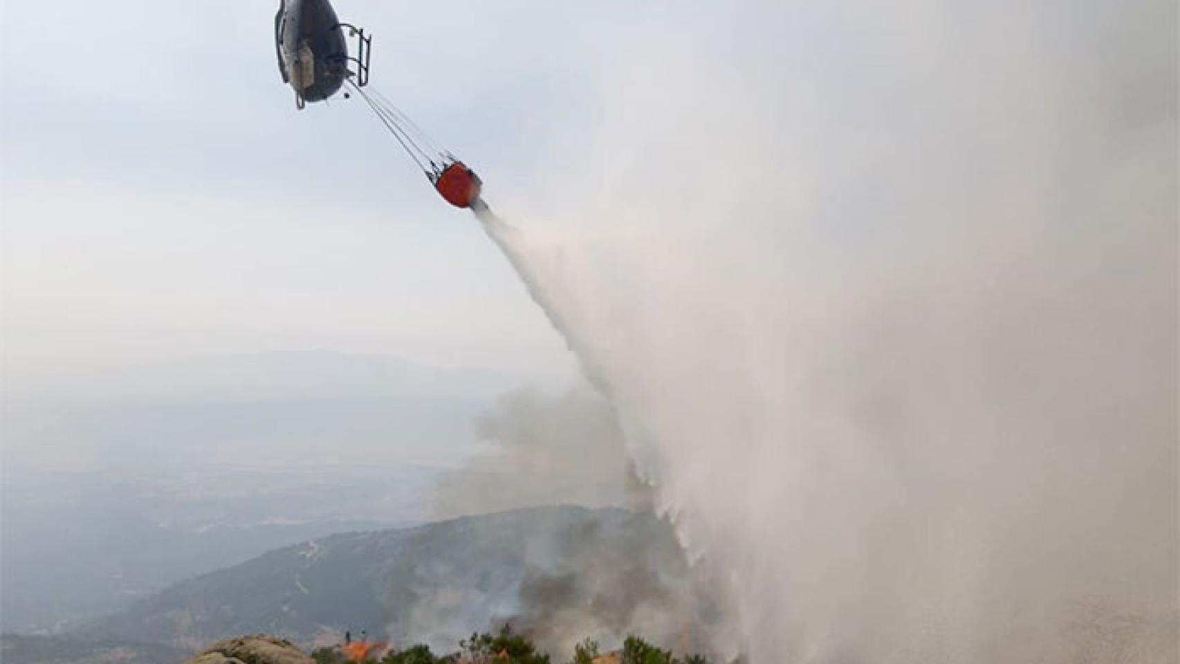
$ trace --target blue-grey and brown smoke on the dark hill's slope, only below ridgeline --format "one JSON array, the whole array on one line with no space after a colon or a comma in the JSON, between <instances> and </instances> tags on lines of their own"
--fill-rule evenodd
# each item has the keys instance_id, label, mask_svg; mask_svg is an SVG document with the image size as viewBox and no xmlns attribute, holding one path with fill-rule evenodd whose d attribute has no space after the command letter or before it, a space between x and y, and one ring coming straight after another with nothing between
<instances>
[{"instance_id":1,"label":"blue-grey and brown smoke on the dark hill's slope, only below ridgeline","mask_svg":"<svg viewBox=\"0 0 1180 664\"><path fill-rule=\"evenodd\" d=\"M451 651L476 630L511 625L556 658L584 638L631 633L703 650L725 629L671 525L650 512L538 507L458 519L404 544L389 578L388 637ZM430 541L426 541L430 540Z\"/></svg>"}]
</instances>

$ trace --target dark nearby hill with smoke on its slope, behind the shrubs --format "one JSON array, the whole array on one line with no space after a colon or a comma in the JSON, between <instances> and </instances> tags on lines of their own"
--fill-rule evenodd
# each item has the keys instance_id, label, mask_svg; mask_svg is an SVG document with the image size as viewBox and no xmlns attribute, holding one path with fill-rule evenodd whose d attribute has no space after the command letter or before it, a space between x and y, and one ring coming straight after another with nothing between
<instances>
[{"instance_id":1,"label":"dark nearby hill with smoke on its slope, behind the shrubs","mask_svg":"<svg viewBox=\"0 0 1180 664\"><path fill-rule=\"evenodd\" d=\"M245 633L310 644L345 630L426 642L512 622L563 647L699 619L670 526L623 509L537 507L335 534L197 577L73 636L195 649Z\"/></svg>"}]
</instances>

